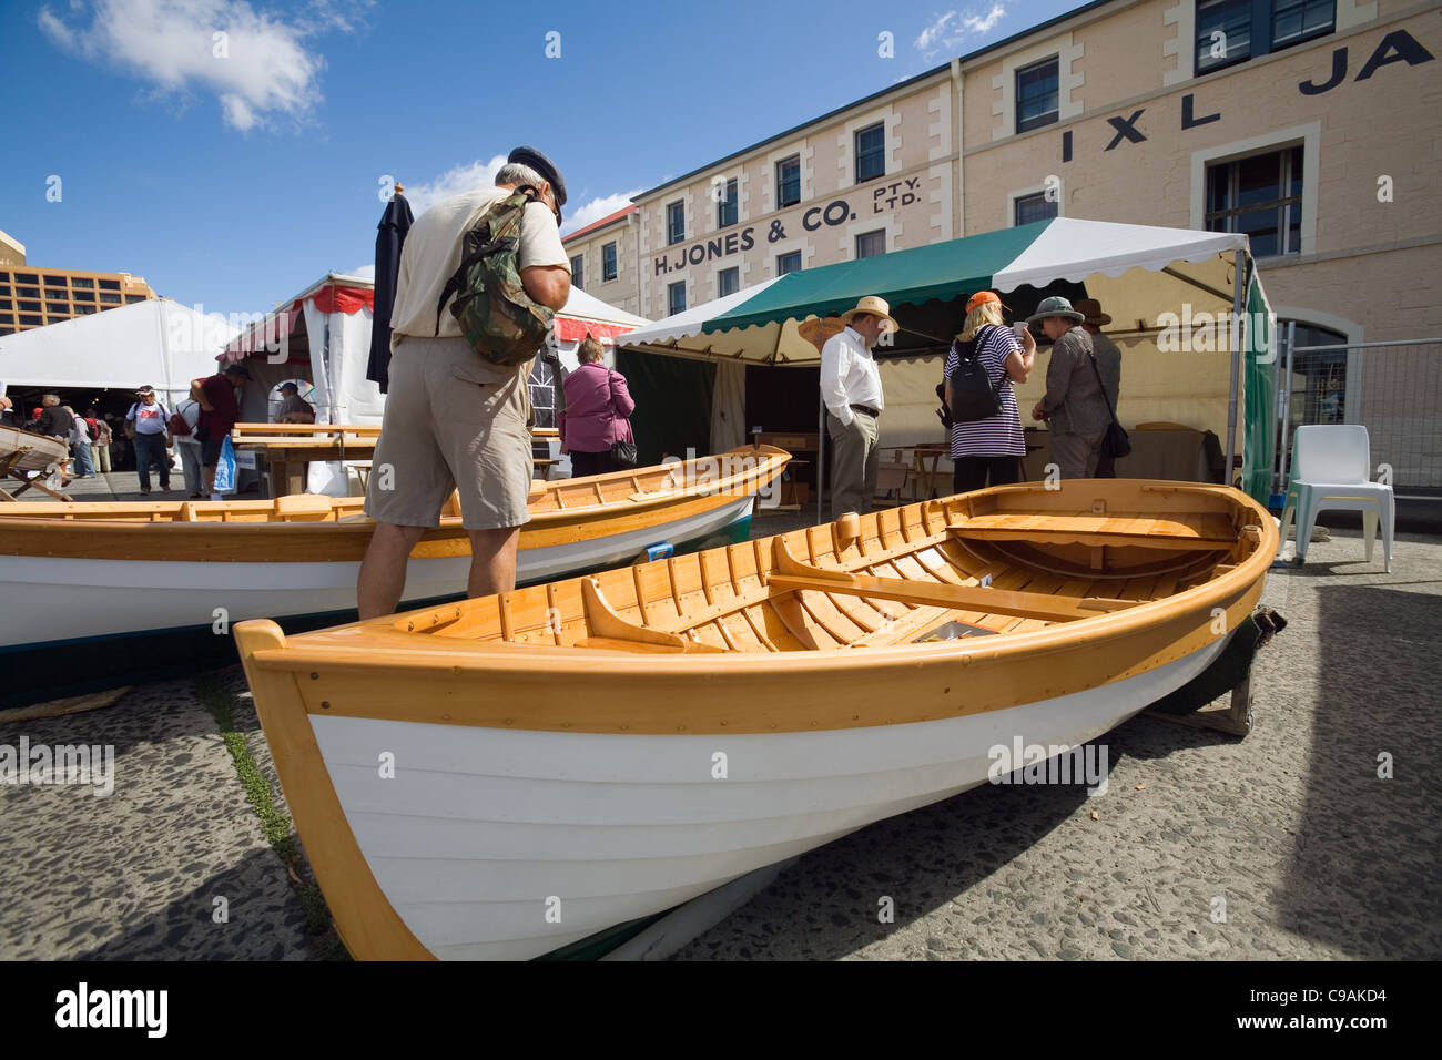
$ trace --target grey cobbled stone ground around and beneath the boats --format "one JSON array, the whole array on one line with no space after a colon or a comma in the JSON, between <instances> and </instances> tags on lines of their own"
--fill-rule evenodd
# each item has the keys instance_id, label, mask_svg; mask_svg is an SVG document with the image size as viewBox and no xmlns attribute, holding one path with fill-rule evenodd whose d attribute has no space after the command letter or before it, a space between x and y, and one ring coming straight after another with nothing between
<instances>
[{"instance_id":1,"label":"grey cobbled stone ground around and beneath the boats","mask_svg":"<svg viewBox=\"0 0 1442 1060\"><path fill-rule=\"evenodd\" d=\"M1105 795L988 786L878 822L679 959L1442 956L1442 539L1400 535L1390 575L1345 531L1309 560L1269 578L1291 624L1244 740L1139 717L1102 741ZM224 681L283 806L244 676ZM0 785L0 959L316 955L192 681L0 725L22 736L112 744L117 786Z\"/></svg>"}]
</instances>

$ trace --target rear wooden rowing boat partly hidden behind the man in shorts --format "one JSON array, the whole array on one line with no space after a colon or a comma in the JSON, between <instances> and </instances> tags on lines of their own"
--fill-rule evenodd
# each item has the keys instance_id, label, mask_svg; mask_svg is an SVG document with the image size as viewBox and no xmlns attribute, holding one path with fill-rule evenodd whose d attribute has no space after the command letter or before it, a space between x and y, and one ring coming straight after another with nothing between
<instances>
[{"instance_id":1,"label":"rear wooden rowing boat partly hidden behind the man in shorts","mask_svg":"<svg viewBox=\"0 0 1442 1060\"><path fill-rule=\"evenodd\" d=\"M626 564L649 548L746 539L756 496L790 456L743 447L632 472L536 482L521 531L523 583ZM14 705L52 685L156 679L198 661L234 659L229 624L286 619L291 629L355 614L355 586L372 524L362 498L275 500L14 503L0 508L0 659L33 681L0 694ZM411 552L408 606L464 594L470 542L451 498L440 526ZM216 635L221 636L216 636ZM111 643L112 642L112 643ZM59 653L75 668L56 666ZM12 658L7 658L12 656ZM222 659L224 661L224 659ZM216 663L218 665L218 663ZM173 669L172 669L173 668ZM88 691L74 685L74 691Z\"/></svg>"}]
</instances>

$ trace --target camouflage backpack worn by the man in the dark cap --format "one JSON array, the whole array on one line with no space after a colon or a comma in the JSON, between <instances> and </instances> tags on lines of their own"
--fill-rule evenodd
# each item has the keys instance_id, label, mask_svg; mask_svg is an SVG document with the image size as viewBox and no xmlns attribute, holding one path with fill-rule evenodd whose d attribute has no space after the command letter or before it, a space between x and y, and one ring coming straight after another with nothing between
<instances>
[{"instance_id":1,"label":"camouflage backpack worn by the man in the dark cap","mask_svg":"<svg viewBox=\"0 0 1442 1060\"><path fill-rule=\"evenodd\" d=\"M460 267L446 281L435 303L435 333L441 309L454 293L451 316L461 335L493 365L529 361L551 333L554 312L532 301L521 284L521 218L535 189L518 187L480 215L461 242Z\"/></svg>"}]
</instances>

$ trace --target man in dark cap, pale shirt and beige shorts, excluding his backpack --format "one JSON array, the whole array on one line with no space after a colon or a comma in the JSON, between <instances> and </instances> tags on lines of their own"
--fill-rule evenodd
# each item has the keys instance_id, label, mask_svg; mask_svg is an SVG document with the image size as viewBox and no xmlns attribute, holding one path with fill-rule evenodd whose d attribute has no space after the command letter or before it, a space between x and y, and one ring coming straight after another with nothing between
<instances>
[{"instance_id":1,"label":"man in dark cap, pale shirt and beige shorts, excluding his backpack","mask_svg":"<svg viewBox=\"0 0 1442 1060\"><path fill-rule=\"evenodd\" d=\"M411 549L438 525L453 489L470 534L469 596L515 588L521 525L529 519L531 362L502 368L485 361L437 303L460 265L466 232L518 187L534 190L521 221L521 284L534 301L562 309L571 293L571 260L558 232L565 182L534 147L510 153L495 187L431 206L405 238L391 310L385 420L365 503L376 528L356 584L362 619L399 606Z\"/></svg>"}]
</instances>

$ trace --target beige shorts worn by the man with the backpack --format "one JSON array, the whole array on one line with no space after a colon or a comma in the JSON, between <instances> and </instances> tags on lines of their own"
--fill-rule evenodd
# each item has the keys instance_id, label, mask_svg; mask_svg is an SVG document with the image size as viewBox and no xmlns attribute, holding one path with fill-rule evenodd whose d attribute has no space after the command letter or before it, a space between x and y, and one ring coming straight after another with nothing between
<instances>
[{"instance_id":1,"label":"beige shorts worn by the man with the backpack","mask_svg":"<svg viewBox=\"0 0 1442 1060\"><path fill-rule=\"evenodd\" d=\"M454 489L466 529L529 521L529 417L526 366L493 368L464 339L407 336L391 358L366 515L435 526Z\"/></svg>"}]
</instances>

